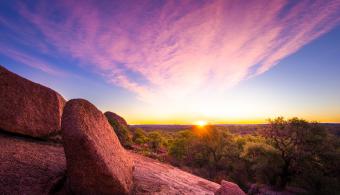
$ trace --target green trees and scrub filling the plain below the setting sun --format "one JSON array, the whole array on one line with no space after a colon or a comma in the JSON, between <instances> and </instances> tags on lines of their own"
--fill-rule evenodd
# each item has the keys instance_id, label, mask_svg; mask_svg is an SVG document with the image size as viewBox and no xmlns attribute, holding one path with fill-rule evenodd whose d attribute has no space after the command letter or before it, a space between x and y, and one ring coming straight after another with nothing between
<instances>
[{"instance_id":1,"label":"green trees and scrub filling the plain below the setting sun","mask_svg":"<svg viewBox=\"0 0 340 195\"><path fill-rule=\"evenodd\" d=\"M132 129L134 150L201 177L226 179L247 191L251 184L308 194L340 194L340 142L318 123L282 117L253 134L228 127L177 132Z\"/></svg>"}]
</instances>

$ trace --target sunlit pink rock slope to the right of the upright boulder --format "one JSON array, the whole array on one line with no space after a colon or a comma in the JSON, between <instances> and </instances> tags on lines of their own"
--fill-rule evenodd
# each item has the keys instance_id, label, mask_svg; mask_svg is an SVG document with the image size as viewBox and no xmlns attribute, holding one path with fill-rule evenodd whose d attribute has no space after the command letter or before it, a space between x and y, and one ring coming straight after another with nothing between
<instances>
[{"instance_id":1,"label":"sunlit pink rock slope to the right of the upright boulder","mask_svg":"<svg viewBox=\"0 0 340 195\"><path fill-rule=\"evenodd\" d=\"M141 156L130 154L135 162L133 194L138 195L210 195L219 184L197 177L171 165Z\"/></svg>"}]
</instances>

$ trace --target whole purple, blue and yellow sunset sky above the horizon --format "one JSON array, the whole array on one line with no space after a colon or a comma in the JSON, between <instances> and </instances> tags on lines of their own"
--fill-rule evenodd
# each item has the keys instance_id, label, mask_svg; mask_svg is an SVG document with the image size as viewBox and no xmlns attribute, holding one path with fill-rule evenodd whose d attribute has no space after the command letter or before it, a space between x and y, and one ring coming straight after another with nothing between
<instances>
[{"instance_id":1,"label":"whole purple, blue and yellow sunset sky above the horizon","mask_svg":"<svg viewBox=\"0 0 340 195\"><path fill-rule=\"evenodd\" d=\"M3 0L0 64L130 124L340 122L340 0Z\"/></svg>"}]
</instances>

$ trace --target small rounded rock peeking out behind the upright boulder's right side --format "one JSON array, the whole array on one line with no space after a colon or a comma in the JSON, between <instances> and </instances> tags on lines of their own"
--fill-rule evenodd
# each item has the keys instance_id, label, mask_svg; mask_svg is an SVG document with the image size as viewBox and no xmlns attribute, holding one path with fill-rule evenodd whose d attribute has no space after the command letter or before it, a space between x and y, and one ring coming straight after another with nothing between
<instances>
[{"instance_id":1,"label":"small rounded rock peeking out behind the upright boulder's right side","mask_svg":"<svg viewBox=\"0 0 340 195\"><path fill-rule=\"evenodd\" d=\"M113 127L120 143L125 148L131 148L132 145L132 134L129 130L129 126L125 119L113 112L105 112L104 114Z\"/></svg>"}]
</instances>

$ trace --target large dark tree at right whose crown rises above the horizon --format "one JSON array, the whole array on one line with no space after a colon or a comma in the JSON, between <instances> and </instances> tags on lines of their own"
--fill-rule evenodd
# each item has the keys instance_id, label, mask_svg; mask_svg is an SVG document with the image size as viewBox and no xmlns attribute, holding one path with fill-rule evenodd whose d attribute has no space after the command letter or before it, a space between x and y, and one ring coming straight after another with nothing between
<instances>
[{"instance_id":1,"label":"large dark tree at right whose crown rises above the horizon","mask_svg":"<svg viewBox=\"0 0 340 195\"><path fill-rule=\"evenodd\" d=\"M269 122L262 135L282 160L277 187L284 189L293 180L303 183L309 179L302 176L307 172L322 172L327 164L323 155L330 149L329 133L324 127L299 118L284 120L279 117Z\"/></svg>"}]
</instances>

